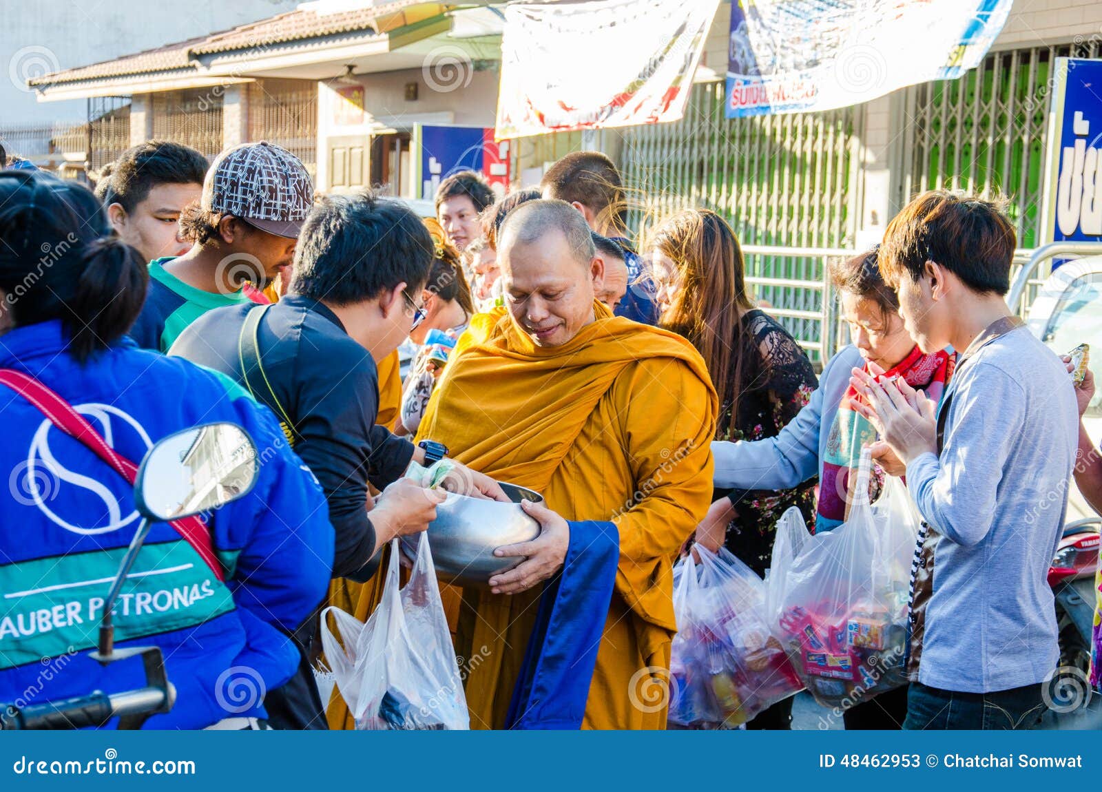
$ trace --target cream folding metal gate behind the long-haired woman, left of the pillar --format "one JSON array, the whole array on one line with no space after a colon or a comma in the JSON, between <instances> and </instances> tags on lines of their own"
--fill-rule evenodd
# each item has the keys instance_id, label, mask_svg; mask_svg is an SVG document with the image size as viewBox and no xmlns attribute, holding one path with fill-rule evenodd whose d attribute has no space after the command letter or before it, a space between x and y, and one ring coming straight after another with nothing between
<instances>
[{"instance_id":1,"label":"cream folding metal gate behind the long-haired woman, left of the pillar","mask_svg":"<svg viewBox=\"0 0 1102 792\"><path fill-rule=\"evenodd\" d=\"M682 120L625 131L631 229L646 240L665 216L704 207L744 246L852 246L863 108L727 119L723 105L722 83L695 85ZM755 296L817 356L825 258L804 252L746 251L746 274Z\"/></svg>"}]
</instances>

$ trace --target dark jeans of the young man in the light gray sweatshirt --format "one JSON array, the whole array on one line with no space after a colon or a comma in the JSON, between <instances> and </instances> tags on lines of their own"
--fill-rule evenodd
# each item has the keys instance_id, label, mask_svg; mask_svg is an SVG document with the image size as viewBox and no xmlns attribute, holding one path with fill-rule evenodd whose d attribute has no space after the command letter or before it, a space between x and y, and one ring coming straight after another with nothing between
<instances>
[{"instance_id":1,"label":"dark jeans of the young man in the light gray sweatshirt","mask_svg":"<svg viewBox=\"0 0 1102 792\"><path fill-rule=\"evenodd\" d=\"M911 682L905 729L1031 729L1045 712L1041 684L955 693Z\"/></svg>"}]
</instances>

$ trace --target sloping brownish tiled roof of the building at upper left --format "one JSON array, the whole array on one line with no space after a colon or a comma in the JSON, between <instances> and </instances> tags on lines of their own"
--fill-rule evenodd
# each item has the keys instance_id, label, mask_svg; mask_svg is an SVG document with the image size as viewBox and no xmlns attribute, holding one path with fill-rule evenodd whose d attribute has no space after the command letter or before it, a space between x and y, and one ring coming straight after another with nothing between
<instances>
[{"instance_id":1,"label":"sloping brownish tiled roof of the building at upper left","mask_svg":"<svg viewBox=\"0 0 1102 792\"><path fill-rule=\"evenodd\" d=\"M343 33L387 32L403 24L443 13L457 3L426 0L396 0L379 6L318 13L316 9L288 11L259 22L239 25L207 36L165 44L133 55L45 74L28 80L29 85L53 85L86 79L122 77L149 72L194 69L199 55L212 55L237 50L251 50L287 42L317 39ZM415 10L414 10L415 9Z\"/></svg>"}]
</instances>

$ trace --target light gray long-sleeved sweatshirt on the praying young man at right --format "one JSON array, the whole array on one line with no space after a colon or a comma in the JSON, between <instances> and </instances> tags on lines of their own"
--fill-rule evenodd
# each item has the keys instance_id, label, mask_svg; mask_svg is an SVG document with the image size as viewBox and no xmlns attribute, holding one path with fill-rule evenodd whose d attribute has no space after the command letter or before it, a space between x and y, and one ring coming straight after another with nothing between
<instances>
[{"instance_id":1,"label":"light gray long-sleeved sweatshirt on the praying young man at right","mask_svg":"<svg viewBox=\"0 0 1102 792\"><path fill-rule=\"evenodd\" d=\"M1044 681L1057 664L1046 581L1063 525L1079 413L1060 359L1019 327L955 372L941 455L907 466L939 534L919 681L987 693Z\"/></svg>"}]
</instances>

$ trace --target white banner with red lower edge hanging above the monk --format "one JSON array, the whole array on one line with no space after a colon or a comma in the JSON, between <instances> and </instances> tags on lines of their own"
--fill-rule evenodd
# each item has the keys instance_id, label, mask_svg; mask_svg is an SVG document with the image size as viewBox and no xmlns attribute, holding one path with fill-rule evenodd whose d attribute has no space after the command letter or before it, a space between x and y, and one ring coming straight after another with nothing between
<instances>
[{"instance_id":1,"label":"white banner with red lower edge hanging above the monk","mask_svg":"<svg viewBox=\"0 0 1102 792\"><path fill-rule=\"evenodd\" d=\"M495 137L676 121L719 0L505 7Z\"/></svg>"}]
</instances>

